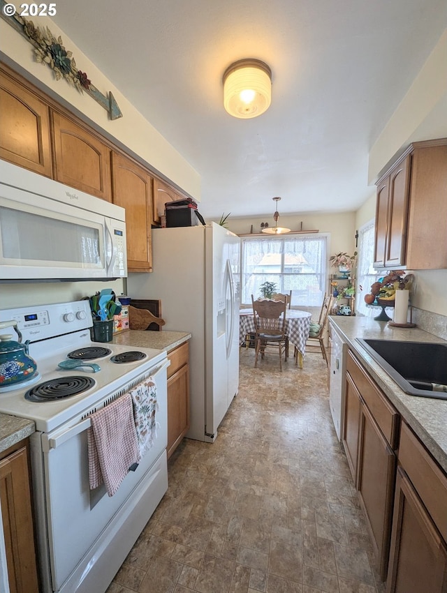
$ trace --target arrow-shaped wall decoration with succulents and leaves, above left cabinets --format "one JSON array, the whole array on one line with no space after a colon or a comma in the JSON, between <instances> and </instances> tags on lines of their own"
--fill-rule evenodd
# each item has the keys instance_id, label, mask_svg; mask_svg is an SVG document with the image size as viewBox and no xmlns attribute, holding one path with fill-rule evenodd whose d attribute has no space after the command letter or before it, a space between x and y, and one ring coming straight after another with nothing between
<instances>
[{"instance_id":1,"label":"arrow-shaped wall decoration with succulents and leaves, above left cabinets","mask_svg":"<svg viewBox=\"0 0 447 593\"><path fill-rule=\"evenodd\" d=\"M2 8L4 1L1 0ZM93 84L87 73L82 72L76 66L73 52L68 52L62 41L62 38L54 37L53 33L48 27L35 27L31 20L20 17L15 14L11 17L5 15L1 10L0 15L6 22L8 22L16 31L22 34L24 38L29 40L29 43L34 46L34 56L36 61L50 66L56 80L64 78L69 84L78 89L81 93L85 91L94 100L96 100L101 107L103 107L109 114L110 119L118 119L123 114L119 109L115 97L111 92L104 95Z\"/></svg>"}]
</instances>

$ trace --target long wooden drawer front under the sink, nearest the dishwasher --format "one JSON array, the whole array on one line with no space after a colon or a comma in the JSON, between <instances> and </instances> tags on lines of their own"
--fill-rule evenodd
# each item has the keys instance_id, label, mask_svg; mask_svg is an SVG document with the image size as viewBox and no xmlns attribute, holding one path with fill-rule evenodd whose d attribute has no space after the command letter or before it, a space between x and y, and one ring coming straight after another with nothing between
<instances>
[{"instance_id":1,"label":"long wooden drawer front under the sink, nearest the dishwasher","mask_svg":"<svg viewBox=\"0 0 447 593\"><path fill-rule=\"evenodd\" d=\"M388 403L379 388L368 377L351 352L348 352L346 370L351 375L358 391L362 394L369 412L379 425L384 437L392 449L397 448L397 426L399 414L395 407Z\"/></svg>"}]
</instances>

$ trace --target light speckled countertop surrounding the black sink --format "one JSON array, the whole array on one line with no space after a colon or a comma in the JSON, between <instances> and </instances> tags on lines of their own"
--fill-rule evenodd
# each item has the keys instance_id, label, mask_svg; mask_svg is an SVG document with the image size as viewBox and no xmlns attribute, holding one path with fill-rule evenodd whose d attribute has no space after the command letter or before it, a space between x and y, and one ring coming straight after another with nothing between
<instances>
[{"instance_id":1,"label":"light speckled countertop surrounding the black sink","mask_svg":"<svg viewBox=\"0 0 447 593\"><path fill-rule=\"evenodd\" d=\"M387 322L370 317L329 317L330 324L348 343L369 375L386 394L439 465L447 473L447 400L409 396L381 369L356 338L406 340L413 342L446 343L446 340L422 329L389 326Z\"/></svg>"}]
</instances>

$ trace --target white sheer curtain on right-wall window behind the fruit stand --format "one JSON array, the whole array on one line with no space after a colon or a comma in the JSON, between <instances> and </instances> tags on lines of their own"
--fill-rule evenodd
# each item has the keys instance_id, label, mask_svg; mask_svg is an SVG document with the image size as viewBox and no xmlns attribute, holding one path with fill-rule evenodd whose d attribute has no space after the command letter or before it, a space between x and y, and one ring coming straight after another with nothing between
<instances>
[{"instance_id":1,"label":"white sheer curtain on right-wall window behind the fruit stand","mask_svg":"<svg viewBox=\"0 0 447 593\"><path fill-rule=\"evenodd\" d=\"M358 315L374 317L378 315L377 308L367 306L365 294L368 294L371 285L376 282L380 274L373 267L374 262L374 220L363 225L358 231L358 260L357 260L357 287L356 287L356 312Z\"/></svg>"}]
</instances>

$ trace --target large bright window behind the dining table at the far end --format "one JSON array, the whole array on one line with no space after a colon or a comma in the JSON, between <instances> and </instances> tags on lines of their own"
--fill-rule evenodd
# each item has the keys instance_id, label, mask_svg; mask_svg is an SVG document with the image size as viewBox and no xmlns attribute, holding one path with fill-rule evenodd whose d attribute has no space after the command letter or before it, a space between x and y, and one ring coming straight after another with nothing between
<instances>
[{"instance_id":1,"label":"large bright window behind the dining table at the far end","mask_svg":"<svg viewBox=\"0 0 447 593\"><path fill-rule=\"evenodd\" d=\"M256 237L242 241L241 302L261 296L264 282L292 291L292 306L321 306L325 293L327 237L323 234Z\"/></svg>"}]
</instances>

